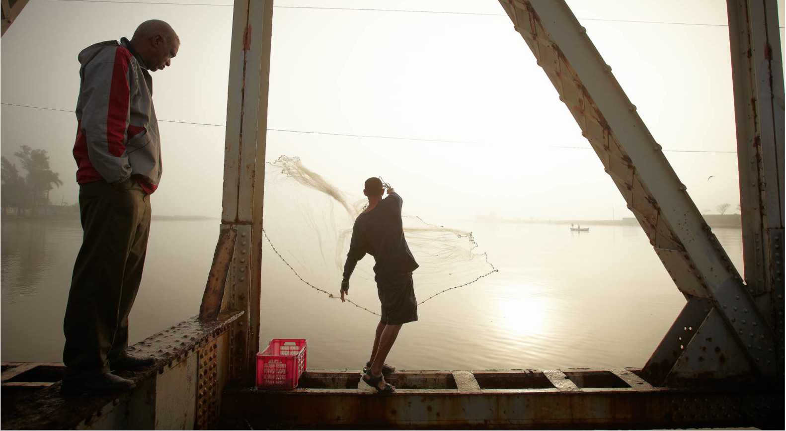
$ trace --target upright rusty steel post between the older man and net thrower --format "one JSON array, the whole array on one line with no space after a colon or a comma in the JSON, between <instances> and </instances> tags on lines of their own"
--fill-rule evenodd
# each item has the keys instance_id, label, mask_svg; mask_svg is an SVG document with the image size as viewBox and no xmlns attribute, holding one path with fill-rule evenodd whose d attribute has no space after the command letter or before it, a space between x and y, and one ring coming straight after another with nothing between
<instances>
[{"instance_id":1,"label":"upright rusty steel post between the older man and net thrower","mask_svg":"<svg viewBox=\"0 0 786 431\"><path fill-rule=\"evenodd\" d=\"M230 378L254 382L259 352L263 193L273 0L233 6L222 225L237 230L222 308L244 311L231 333ZM212 270L211 270L212 271Z\"/></svg>"}]
</instances>

